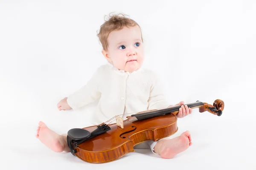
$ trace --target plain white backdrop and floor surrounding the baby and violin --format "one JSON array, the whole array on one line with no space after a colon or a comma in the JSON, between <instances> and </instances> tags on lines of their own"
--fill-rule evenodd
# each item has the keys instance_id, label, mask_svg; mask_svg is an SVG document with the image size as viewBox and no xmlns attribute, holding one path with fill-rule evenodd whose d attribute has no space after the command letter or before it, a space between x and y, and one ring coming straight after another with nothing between
<instances>
[{"instance_id":1,"label":"plain white backdrop and floor surrounding the baby and violin","mask_svg":"<svg viewBox=\"0 0 256 170\"><path fill-rule=\"evenodd\" d=\"M193 144L173 159L136 150L89 164L35 138L39 121L60 134L90 122L96 103L56 105L106 63L96 31L110 12L140 24L143 66L160 74L170 105L225 103L220 117L178 119L174 137L189 130ZM253 0L0 0L0 168L255 170L255 18Z\"/></svg>"}]
</instances>

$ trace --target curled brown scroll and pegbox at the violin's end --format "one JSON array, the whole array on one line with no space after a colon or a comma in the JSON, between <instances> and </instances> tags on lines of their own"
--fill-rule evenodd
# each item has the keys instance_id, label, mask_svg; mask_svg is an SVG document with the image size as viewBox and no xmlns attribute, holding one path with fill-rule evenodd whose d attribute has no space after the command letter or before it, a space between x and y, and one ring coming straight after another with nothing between
<instances>
[{"instance_id":1,"label":"curled brown scroll and pegbox at the violin's end","mask_svg":"<svg viewBox=\"0 0 256 170\"><path fill-rule=\"evenodd\" d=\"M217 99L213 102L213 105L204 103L204 105L199 107L199 112L202 113L202 112L208 111L217 116L221 116L223 109L224 109L224 102L220 99Z\"/></svg>"}]
</instances>

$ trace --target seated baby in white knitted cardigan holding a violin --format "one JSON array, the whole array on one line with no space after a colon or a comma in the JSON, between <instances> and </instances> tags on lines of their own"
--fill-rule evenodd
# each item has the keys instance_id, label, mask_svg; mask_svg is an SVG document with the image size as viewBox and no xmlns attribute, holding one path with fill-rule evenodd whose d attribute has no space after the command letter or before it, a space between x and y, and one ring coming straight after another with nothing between
<instances>
[{"instance_id":1,"label":"seated baby in white knitted cardigan holding a violin","mask_svg":"<svg viewBox=\"0 0 256 170\"><path fill-rule=\"evenodd\" d=\"M123 114L125 118L128 113L169 107L156 74L142 68L145 57L143 37L134 20L113 15L102 24L98 37L108 64L100 66L86 85L62 99L57 105L58 110L76 110L99 99L93 114L93 125L99 125L116 115ZM183 101L177 105L182 105L178 118L192 113ZM55 152L70 151L67 134L55 133L44 122L39 122L36 137ZM173 139L167 137L143 143L165 159L173 158L192 144L189 131Z\"/></svg>"}]
</instances>

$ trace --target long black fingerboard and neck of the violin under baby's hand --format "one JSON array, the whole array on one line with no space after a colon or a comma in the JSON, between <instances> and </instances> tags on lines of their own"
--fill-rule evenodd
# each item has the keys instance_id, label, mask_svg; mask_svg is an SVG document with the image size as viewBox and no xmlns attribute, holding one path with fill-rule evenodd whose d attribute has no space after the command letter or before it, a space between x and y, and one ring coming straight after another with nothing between
<instances>
[{"instance_id":1,"label":"long black fingerboard and neck of the violin under baby's hand","mask_svg":"<svg viewBox=\"0 0 256 170\"><path fill-rule=\"evenodd\" d=\"M204 105L203 102L194 102L194 103L189 103L186 104L189 108L198 108L201 105ZM131 117L136 117L138 120L142 120L142 119L148 119L151 117L155 117L155 116L161 116L161 115L165 115L165 114L169 114L172 113L174 115L176 115L179 112L179 109L181 108L181 105L175 105L169 108L164 108L164 109L159 109L159 110L155 110L155 111L148 111L148 112L143 112L143 113L137 113L137 114L133 114L131 115Z\"/></svg>"}]
</instances>

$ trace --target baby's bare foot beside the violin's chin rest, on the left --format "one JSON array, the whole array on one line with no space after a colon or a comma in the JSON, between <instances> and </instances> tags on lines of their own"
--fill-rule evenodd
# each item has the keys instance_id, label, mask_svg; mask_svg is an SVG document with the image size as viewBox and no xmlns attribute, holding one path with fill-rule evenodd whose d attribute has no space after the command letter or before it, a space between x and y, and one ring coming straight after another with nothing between
<instances>
[{"instance_id":1,"label":"baby's bare foot beside the violin's chin rest, on the left","mask_svg":"<svg viewBox=\"0 0 256 170\"><path fill-rule=\"evenodd\" d=\"M50 130L44 122L38 123L36 137L55 152L68 151L67 135L59 135Z\"/></svg>"}]
</instances>

